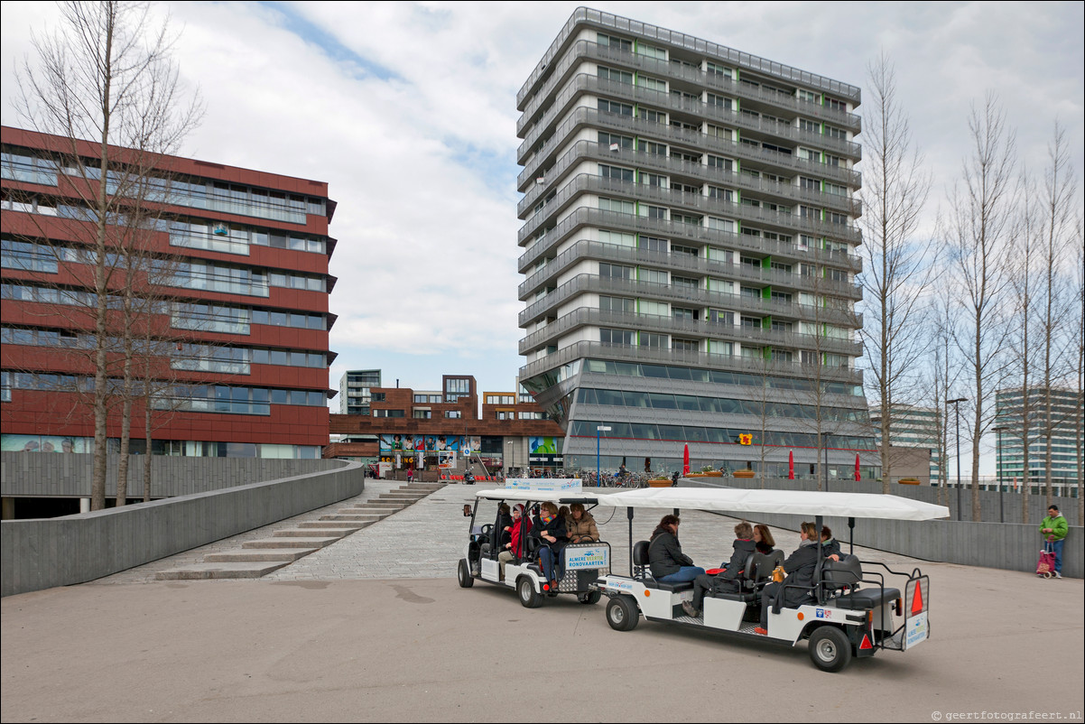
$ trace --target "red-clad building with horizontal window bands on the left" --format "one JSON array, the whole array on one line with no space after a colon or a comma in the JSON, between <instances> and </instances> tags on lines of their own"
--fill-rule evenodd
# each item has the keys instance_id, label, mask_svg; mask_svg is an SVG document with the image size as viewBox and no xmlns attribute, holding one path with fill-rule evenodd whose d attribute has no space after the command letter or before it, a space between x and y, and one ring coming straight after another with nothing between
<instances>
[{"instance_id":1,"label":"red-clad building with horizontal window bands on the left","mask_svg":"<svg viewBox=\"0 0 1085 724\"><path fill-rule=\"evenodd\" d=\"M133 323L145 333L135 354L132 452L146 449L150 399L153 453L320 458L334 394L328 185L156 156L148 183L161 211L136 230L120 201L106 226L112 312L101 334L89 271L94 224L82 201L103 176L100 149L16 128L2 134L3 449L93 450L88 351L104 339L108 384L119 394L131 336L123 336L122 315L132 289ZM117 172L105 176L112 194ZM142 261L122 251L132 234ZM140 302L146 294L157 296ZM114 403L111 449L122 425Z\"/></svg>"}]
</instances>

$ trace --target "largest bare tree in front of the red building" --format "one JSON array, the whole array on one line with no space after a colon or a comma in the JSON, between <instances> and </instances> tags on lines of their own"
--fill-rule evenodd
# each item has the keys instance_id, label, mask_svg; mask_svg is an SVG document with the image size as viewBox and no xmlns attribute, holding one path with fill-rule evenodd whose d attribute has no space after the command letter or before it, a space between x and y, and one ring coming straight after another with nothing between
<instances>
[{"instance_id":1,"label":"largest bare tree in front of the red building","mask_svg":"<svg viewBox=\"0 0 1085 724\"><path fill-rule=\"evenodd\" d=\"M53 35L35 37L37 65L18 74L20 114L28 127L61 137L64 174L93 233L94 467L91 509L105 504L110 388L108 297L115 289L112 236L126 209L153 183L156 154L170 154L197 122L197 101L180 102L168 21L152 27L149 7L69 2ZM94 144L88 153L84 141Z\"/></svg>"}]
</instances>

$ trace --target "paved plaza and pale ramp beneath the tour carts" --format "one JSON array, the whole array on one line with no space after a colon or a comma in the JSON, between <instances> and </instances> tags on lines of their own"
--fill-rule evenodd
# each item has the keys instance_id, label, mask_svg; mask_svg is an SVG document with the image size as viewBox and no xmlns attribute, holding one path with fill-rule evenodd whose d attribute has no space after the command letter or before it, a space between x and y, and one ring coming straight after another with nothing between
<instances>
[{"instance_id":1,"label":"paved plaza and pale ramp beneath the tour carts","mask_svg":"<svg viewBox=\"0 0 1085 724\"><path fill-rule=\"evenodd\" d=\"M397 485L367 481L361 496L330 508ZM1080 721L1080 580L857 551L930 574L932 637L825 674L805 644L757 645L651 622L620 633L602 605L560 597L532 610L511 590L459 588L462 508L475 490L444 487L263 579L155 575L322 511L89 584L3 598L0 717L489 722L526 708L532 721L940 721L984 712ZM638 515L635 537L647 537L664 512ZM614 546L614 570L625 571L628 523L624 511L609 517L600 511L598 522ZM684 549L715 566L731 525L682 513ZM797 534L777 533L784 550L797 545Z\"/></svg>"}]
</instances>

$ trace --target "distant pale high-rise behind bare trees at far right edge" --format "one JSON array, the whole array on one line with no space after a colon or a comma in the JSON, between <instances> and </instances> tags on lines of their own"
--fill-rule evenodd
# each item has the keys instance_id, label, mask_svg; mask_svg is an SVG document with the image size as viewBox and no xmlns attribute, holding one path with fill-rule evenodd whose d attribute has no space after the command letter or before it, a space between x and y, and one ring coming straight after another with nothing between
<instances>
[{"instance_id":1,"label":"distant pale high-rise behind bare trees at far right edge","mask_svg":"<svg viewBox=\"0 0 1085 724\"><path fill-rule=\"evenodd\" d=\"M1029 480L1043 484L1047 475L1047 389L1029 388ZM1077 485L1077 443L1082 434L1082 405L1075 390L1051 388L1051 479L1060 494ZM996 427L1004 428L998 445L997 472L1003 484L1024 481L1023 389L999 390L995 395Z\"/></svg>"}]
</instances>

